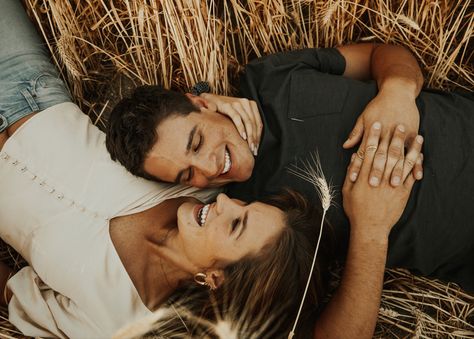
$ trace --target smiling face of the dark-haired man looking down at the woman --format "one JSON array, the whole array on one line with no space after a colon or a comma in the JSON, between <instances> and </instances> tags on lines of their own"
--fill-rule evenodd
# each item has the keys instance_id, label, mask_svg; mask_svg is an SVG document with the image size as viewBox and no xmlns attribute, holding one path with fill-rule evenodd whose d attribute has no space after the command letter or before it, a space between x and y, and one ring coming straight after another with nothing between
<instances>
[{"instance_id":1,"label":"smiling face of the dark-haired man looking down at the woman","mask_svg":"<svg viewBox=\"0 0 474 339\"><path fill-rule=\"evenodd\" d=\"M245 181L254 157L230 119L202 108L175 115L157 128L158 141L145 158L145 171L162 181L216 187Z\"/></svg>"}]
</instances>

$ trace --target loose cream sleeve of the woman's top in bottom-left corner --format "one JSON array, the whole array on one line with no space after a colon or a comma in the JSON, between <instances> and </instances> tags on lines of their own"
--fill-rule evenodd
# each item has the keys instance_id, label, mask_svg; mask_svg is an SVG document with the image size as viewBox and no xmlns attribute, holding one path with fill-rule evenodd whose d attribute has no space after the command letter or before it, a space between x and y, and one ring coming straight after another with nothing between
<instances>
[{"instance_id":1,"label":"loose cream sleeve of the woman's top in bottom-left corner","mask_svg":"<svg viewBox=\"0 0 474 339\"><path fill-rule=\"evenodd\" d=\"M49 288L31 267L21 269L7 286L13 293L8 304L9 321L24 335L59 338L104 335L72 300Z\"/></svg>"}]
</instances>

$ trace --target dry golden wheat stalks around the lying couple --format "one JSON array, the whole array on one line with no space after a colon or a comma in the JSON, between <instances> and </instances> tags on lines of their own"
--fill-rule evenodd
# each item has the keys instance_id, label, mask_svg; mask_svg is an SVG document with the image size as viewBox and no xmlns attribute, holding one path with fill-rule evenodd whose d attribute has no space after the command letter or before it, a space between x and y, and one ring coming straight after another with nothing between
<instances>
[{"instance_id":1,"label":"dry golden wheat stalks around the lying couple","mask_svg":"<svg viewBox=\"0 0 474 339\"><path fill-rule=\"evenodd\" d=\"M242 65L255 57L355 41L406 46L429 87L474 88L470 1L25 3L77 104L100 127L124 88L135 84L185 90L207 80L216 93L231 94ZM474 338L473 317L474 297L459 288L387 270L375 337ZM1 334L19 335L6 320L0 324Z\"/></svg>"}]
</instances>

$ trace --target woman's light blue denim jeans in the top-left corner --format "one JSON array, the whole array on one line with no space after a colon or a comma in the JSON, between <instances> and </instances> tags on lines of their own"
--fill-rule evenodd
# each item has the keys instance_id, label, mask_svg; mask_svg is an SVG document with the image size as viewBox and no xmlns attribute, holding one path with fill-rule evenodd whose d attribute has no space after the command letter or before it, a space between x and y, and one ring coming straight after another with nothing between
<instances>
[{"instance_id":1,"label":"woman's light blue denim jeans in the top-left corner","mask_svg":"<svg viewBox=\"0 0 474 339\"><path fill-rule=\"evenodd\" d=\"M21 1L0 0L0 132L21 118L71 101Z\"/></svg>"}]
</instances>

